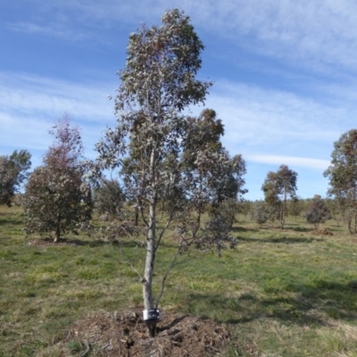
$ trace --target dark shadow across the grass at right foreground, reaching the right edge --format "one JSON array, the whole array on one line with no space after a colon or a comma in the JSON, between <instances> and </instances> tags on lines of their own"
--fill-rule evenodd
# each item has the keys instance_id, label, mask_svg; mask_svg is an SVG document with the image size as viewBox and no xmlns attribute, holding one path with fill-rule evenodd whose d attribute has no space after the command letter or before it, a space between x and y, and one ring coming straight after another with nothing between
<instances>
[{"instance_id":1,"label":"dark shadow across the grass at right foreground, reaching the right edge","mask_svg":"<svg viewBox=\"0 0 357 357\"><path fill-rule=\"evenodd\" d=\"M259 319L280 320L300 326L326 326L328 320L357 321L357 281L346 284L319 280L313 285L286 286L295 297L271 294L258 298L254 293L239 297L219 294L187 295L191 311L214 311L215 320L228 324L242 324ZM197 307L198 306L198 307ZM208 316L207 316L208 318Z\"/></svg>"}]
</instances>

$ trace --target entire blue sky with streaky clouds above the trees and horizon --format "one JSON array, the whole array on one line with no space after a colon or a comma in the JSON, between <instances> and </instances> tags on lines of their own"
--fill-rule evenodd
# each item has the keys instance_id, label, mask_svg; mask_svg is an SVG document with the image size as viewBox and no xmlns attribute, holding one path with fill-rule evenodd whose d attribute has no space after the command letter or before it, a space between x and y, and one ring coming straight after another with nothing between
<instances>
[{"instance_id":1,"label":"entire blue sky with streaky clouds above the trees and horizon","mask_svg":"<svg viewBox=\"0 0 357 357\"><path fill-rule=\"evenodd\" d=\"M39 0L0 3L0 155L28 149L33 168L70 112L87 157L115 125L129 33L184 10L203 40L205 106L223 144L246 161L245 198L263 197L268 171L298 173L297 195L326 195L333 143L356 128L357 3L352 0ZM192 108L193 113L203 107Z\"/></svg>"}]
</instances>

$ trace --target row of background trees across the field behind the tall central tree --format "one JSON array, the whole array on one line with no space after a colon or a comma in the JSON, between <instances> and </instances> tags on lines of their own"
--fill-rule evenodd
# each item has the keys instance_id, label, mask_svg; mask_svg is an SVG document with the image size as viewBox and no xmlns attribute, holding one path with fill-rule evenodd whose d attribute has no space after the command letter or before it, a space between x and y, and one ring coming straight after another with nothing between
<instances>
[{"instance_id":1,"label":"row of background trees across the field behind the tall central tree","mask_svg":"<svg viewBox=\"0 0 357 357\"><path fill-rule=\"evenodd\" d=\"M315 227L326 220L335 219L338 222L345 221L350 232L356 233L357 130L348 131L335 143L331 165L324 172L330 179L327 198L323 199L320 195L307 199L298 197L297 173L282 164L277 171L268 172L262 184L264 201L250 202L243 198L246 193L243 179L245 161L241 155L230 158L221 145L224 127L221 120L216 118L216 113L206 109L197 118L189 117L187 122L190 129L183 154L185 165L182 170L185 176L182 177L190 180L191 185L194 183L192 187L195 190L197 187L200 190L200 198L189 207L191 218L186 215L180 223L190 237L196 237L203 228L204 213L224 216L229 229L237 221L239 212L248 214L251 220L260 225L277 221L280 228L285 227L287 215L294 216L295 220L303 217ZM91 187L85 179L88 166L83 161L79 129L71 127L68 114L58 120L50 134L54 136L54 144L44 156L44 165L36 168L31 175L29 151L15 150L10 155L0 156L0 204L10 206L17 195L21 196L27 216L25 231L54 233L54 239L57 240L62 233L87 227L94 208L103 220L124 220L125 202L135 203L137 226L144 205L136 192L139 168L136 166L135 150L131 157L123 161L121 182L102 178L99 184ZM225 164L218 165L212 157L209 159L210 169L207 158L204 164L200 163L196 154L207 148L223 154ZM215 193L208 189L210 185ZM168 207L169 199L168 195L162 200L162 208ZM54 217L57 218L54 220Z\"/></svg>"}]
</instances>

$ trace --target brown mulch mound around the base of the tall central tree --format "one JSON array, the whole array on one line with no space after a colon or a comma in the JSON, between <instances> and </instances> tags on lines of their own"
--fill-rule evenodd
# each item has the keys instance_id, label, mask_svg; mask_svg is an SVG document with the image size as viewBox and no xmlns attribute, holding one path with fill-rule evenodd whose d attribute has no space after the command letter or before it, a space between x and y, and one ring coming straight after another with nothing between
<instances>
[{"instance_id":1,"label":"brown mulch mound around the base of the tall central tree","mask_svg":"<svg viewBox=\"0 0 357 357\"><path fill-rule=\"evenodd\" d=\"M94 312L72 326L66 342L78 341L83 356L191 357L219 355L230 341L222 325L176 313L164 313L150 338L141 314Z\"/></svg>"}]
</instances>

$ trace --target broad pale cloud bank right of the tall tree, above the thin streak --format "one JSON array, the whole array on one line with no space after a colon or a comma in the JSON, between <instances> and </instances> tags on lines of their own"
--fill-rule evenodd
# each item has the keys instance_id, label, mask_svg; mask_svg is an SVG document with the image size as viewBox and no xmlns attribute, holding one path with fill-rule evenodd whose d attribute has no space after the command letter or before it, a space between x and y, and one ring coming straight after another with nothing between
<instances>
[{"instance_id":1,"label":"broad pale cloud bank right of the tall tree, above the thin streak","mask_svg":"<svg viewBox=\"0 0 357 357\"><path fill-rule=\"evenodd\" d=\"M329 157L333 142L351 129L353 113L357 113L354 103L331 105L288 92L228 82L216 83L206 105L223 120L229 150L269 150L270 154L315 158Z\"/></svg>"}]
</instances>

